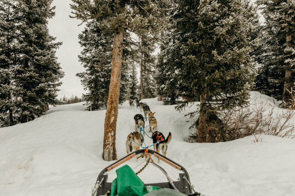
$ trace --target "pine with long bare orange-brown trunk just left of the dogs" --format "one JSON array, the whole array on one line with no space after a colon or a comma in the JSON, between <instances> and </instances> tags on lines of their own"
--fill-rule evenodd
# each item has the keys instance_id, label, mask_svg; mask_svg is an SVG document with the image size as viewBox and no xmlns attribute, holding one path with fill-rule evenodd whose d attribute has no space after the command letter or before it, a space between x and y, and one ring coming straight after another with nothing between
<instances>
[{"instance_id":1,"label":"pine with long bare orange-brown trunk just left of the dogs","mask_svg":"<svg viewBox=\"0 0 295 196\"><path fill-rule=\"evenodd\" d=\"M142 34L147 34L153 29L161 29L162 24L157 23L157 18L153 12L158 12L154 4L149 1L120 1L120 0L72 0L74 4L71 8L73 17L87 21L96 19L99 28L105 35L113 36L112 50L112 72L109 86L109 96L106 108L106 118L104 123L104 160L116 160L116 123L118 116L119 91L121 81L121 70L123 60L124 33L145 29ZM150 14L142 17L138 13L138 7L144 6Z\"/></svg>"}]
</instances>

